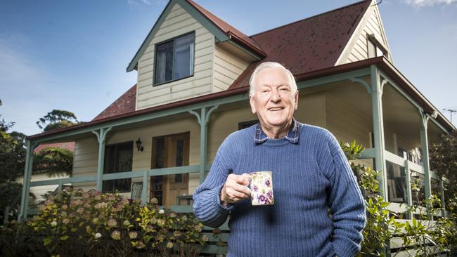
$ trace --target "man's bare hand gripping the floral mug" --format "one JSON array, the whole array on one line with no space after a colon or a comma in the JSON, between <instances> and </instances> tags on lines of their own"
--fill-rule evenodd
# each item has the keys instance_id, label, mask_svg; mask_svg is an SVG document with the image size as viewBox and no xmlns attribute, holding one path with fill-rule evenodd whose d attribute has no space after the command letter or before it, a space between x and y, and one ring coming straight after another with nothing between
<instances>
[{"instance_id":1,"label":"man's bare hand gripping the floral mug","mask_svg":"<svg viewBox=\"0 0 457 257\"><path fill-rule=\"evenodd\" d=\"M227 177L224 187L221 190L221 204L226 206L250 197L251 192L247 188L249 185L249 174L242 175L230 174Z\"/></svg>"}]
</instances>

